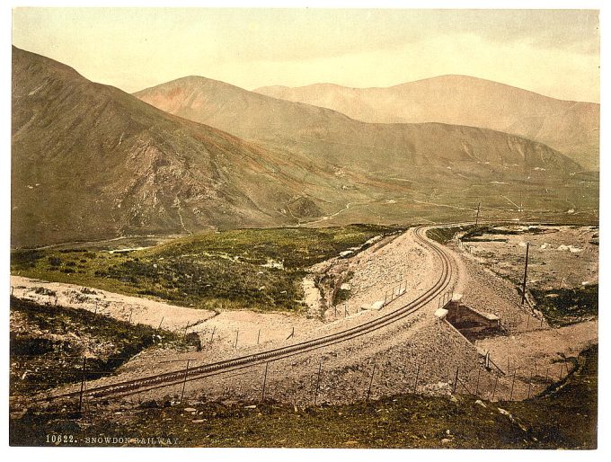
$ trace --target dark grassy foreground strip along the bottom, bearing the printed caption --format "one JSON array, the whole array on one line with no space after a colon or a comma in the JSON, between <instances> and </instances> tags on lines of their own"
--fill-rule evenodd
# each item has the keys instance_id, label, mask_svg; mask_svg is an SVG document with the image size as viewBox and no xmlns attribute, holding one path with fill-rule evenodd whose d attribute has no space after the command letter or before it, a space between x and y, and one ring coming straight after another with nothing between
<instances>
[{"instance_id":1,"label":"dark grassy foreground strip along the bottom, bearing the printed caption","mask_svg":"<svg viewBox=\"0 0 611 462\"><path fill-rule=\"evenodd\" d=\"M578 363L547 395L522 402L397 395L301 409L276 403L173 405L168 399L121 408L120 416L116 408L96 409L79 421L61 412L31 411L11 420L10 438L12 445L46 445L47 434L66 433L80 439L75 445L86 445L84 435L155 435L186 447L595 449L598 347L583 351ZM185 411L191 406L195 413Z\"/></svg>"}]
</instances>

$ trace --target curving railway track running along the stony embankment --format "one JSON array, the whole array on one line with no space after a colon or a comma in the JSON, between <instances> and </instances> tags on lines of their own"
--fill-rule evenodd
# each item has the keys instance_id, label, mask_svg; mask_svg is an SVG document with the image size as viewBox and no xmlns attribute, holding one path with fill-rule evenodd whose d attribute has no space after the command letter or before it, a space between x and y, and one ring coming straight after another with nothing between
<instances>
[{"instance_id":1,"label":"curving railway track running along the stony embankment","mask_svg":"<svg viewBox=\"0 0 611 462\"><path fill-rule=\"evenodd\" d=\"M367 323L350 327L349 329L345 329L338 333L331 333L329 335L324 335L323 337L307 340L305 342L298 342L292 345L252 353L231 360L223 360L205 364L190 369L181 369L143 378L135 378L109 385L93 386L84 391L83 395L93 398L109 396L118 397L142 393L165 386L181 385L188 381L224 374L237 369L249 368L253 365L261 364L266 361L280 360L308 351L326 348L339 342L346 342L359 336L366 335L367 333L375 332L376 330L384 328L388 324L395 323L396 321L411 315L421 307L424 307L435 298L438 298L439 295L446 293L450 281L452 280L452 264L450 258L447 256L447 253L440 244L430 241L424 235L425 230L425 227L415 228L414 235L416 241L429 247L429 249L438 257L438 261L441 263L441 271L438 280L432 287L430 287L420 297L415 298L403 305L403 307L396 308L394 311L387 313L386 315L382 315L376 319L368 321ZM41 398L39 401L51 401L60 398L74 398L80 394L81 391L75 391L61 395L51 395Z\"/></svg>"}]
</instances>

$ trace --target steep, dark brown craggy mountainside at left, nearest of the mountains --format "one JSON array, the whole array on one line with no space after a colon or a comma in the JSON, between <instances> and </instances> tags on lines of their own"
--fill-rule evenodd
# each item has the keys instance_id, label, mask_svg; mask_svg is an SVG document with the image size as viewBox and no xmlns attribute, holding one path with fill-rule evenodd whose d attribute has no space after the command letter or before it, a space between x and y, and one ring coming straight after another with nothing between
<instances>
[{"instance_id":1,"label":"steep, dark brown craggy mountainside at left, nearest of the mountains","mask_svg":"<svg viewBox=\"0 0 611 462\"><path fill-rule=\"evenodd\" d=\"M12 244L295 222L274 155L13 48Z\"/></svg>"}]
</instances>

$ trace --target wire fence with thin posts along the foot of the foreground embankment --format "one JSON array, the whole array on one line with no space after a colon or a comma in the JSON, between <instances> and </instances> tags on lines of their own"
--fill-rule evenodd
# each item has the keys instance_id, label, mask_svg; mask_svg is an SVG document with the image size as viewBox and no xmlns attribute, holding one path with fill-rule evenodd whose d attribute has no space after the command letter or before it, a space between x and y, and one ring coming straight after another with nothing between
<instances>
[{"instance_id":1,"label":"wire fence with thin posts along the foot of the foreground embankment","mask_svg":"<svg viewBox=\"0 0 611 462\"><path fill-rule=\"evenodd\" d=\"M416 358L403 365L402 372L397 374L396 369L389 368L394 362L382 357L371 358L352 368L338 369L327 355L321 355L292 365L287 359L270 360L213 377L197 377L190 374L194 367L202 364L201 361L186 358L166 362L181 365L170 370L179 373L182 380L160 386L154 392L133 390L127 397L96 397L89 393L95 389L96 384L92 381L109 373L96 370L96 366L83 357L81 381L72 385L79 393L59 399L58 408L66 415L92 413L100 403L146 404L158 401L160 396L172 404L206 396L211 400L234 398L252 404L288 402L306 406L369 402L400 394L471 395L491 402L511 401L544 393L566 378L576 366L569 360L552 365L533 361L523 366L518 360L508 358L507 364L501 367L484 365L467 369L451 364L450 360L433 366L429 358ZM44 385L44 382L37 382L37 385ZM13 395L12 399L27 408L36 408L31 395ZM58 408L48 412L58 413Z\"/></svg>"}]
</instances>

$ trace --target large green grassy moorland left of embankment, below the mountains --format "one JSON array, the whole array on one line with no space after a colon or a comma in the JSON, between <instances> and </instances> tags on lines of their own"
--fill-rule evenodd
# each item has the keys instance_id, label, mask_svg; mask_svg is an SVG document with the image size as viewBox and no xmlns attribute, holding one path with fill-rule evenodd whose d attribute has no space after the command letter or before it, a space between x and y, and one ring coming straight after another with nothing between
<instances>
[{"instance_id":1,"label":"large green grassy moorland left of embankment, below the mountains","mask_svg":"<svg viewBox=\"0 0 611 462\"><path fill-rule=\"evenodd\" d=\"M11 271L186 307L298 312L303 309L300 281L309 266L396 229L374 225L241 229L122 253L20 250L12 253Z\"/></svg>"}]
</instances>

